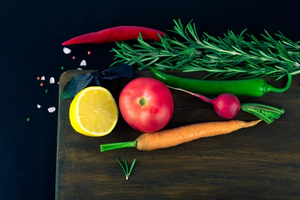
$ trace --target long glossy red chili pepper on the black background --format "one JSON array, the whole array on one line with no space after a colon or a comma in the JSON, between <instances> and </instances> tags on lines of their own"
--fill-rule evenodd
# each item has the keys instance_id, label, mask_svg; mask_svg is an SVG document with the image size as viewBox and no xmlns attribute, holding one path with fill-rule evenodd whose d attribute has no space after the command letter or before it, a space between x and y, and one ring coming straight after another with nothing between
<instances>
[{"instance_id":1,"label":"long glossy red chili pepper on the black background","mask_svg":"<svg viewBox=\"0 0 300 200\"><path fill-rule=\"evenodd\" d=\"M161 37L165 35L165 33L160 30L142 26L116 26L76 36L63 42L62 45L80 43L106 43L137 39L139 32L144 40L160 41L157 33L159 33Z\"/></svg>"}]
</instances>

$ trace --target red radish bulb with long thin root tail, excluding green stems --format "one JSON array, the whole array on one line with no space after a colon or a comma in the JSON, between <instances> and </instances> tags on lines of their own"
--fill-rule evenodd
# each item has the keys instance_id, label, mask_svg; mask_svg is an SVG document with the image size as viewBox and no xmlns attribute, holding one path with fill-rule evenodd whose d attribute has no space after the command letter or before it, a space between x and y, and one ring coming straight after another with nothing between
<instances>
[{"instance_id":1,"label":"red radish bulb with long thin root tail, excluding green stems","mask_svg":"<svg viewBox=\"0 0 300 200\"><path fill-rule=\"evenodd\" d=\"M168 86L170 87L170 86ZM170 87L173 88L173 87ZM192 93L190 91L186 91L184 89L179 89L179 88L173 88L177 90L184 91L186 93L189 93L191 95L197 96L204 100L205 102L211 103L213 105L213 108L215 112L223 118L233 118L236 116L237 112L240 109L240 104L238 98L231 94L231 93L222 93L218 95L214 99L207 98L203 95Z\"/></svg>"}]
</instances>

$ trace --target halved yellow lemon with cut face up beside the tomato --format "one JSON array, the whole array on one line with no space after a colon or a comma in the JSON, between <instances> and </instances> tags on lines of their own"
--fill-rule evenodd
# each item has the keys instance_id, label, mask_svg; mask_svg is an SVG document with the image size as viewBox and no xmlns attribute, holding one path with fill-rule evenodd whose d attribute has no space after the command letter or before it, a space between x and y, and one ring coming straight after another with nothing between
<instances>
[{"instance_id":1,"label":"halved yellow lemon with cut face up beside the tomato","mask_svg":"<svg viewBox=\"0 0 300 200\"><path fill-rule=\"evenodd\" d=\"M103 136L111 132L118 119L118 108L111 93L100 86L82 89L69 108L72 127L87 136Z\"/></svg>"}]
</instances>

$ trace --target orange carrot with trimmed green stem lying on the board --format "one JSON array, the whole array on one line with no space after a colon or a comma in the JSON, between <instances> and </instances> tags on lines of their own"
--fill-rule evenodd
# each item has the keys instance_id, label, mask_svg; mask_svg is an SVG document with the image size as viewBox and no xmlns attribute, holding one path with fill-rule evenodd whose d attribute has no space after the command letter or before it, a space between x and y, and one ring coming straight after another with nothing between
<instances>
[{"instance_id":1,"label":"orange carrot with trimmed green stem lying on the board","mask_svg":"<svg viewBox=\"0 0 300 200\"><path fill-rule=\"evenodd\" d=\"M185 125L177 128L146 132L134 141L101 144L101 152L124 147L136 147L138 150L154 150L175 146L201 137L210 137L233 132L240 128L250 127L257 124L261 119L255 121L216 121Z\"/></svg>"}]
</instances>

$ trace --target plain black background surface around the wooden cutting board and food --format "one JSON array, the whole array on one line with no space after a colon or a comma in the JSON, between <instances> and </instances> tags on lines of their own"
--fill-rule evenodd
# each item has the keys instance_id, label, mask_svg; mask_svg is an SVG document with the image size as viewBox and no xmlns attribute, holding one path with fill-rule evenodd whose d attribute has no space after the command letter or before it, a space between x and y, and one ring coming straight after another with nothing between
<instances>
[{"instance_id":1,"label":"plain black background surface around the wooden cutting board and food","mask_svg":"<svg viewBox=\"0 0 300 200\"><path fill-rule=\"evenodd\" d=\"M60 74L112 63L114 43L68 46L61 42L117 25L173 29L191 19L198 33L222 36L228 29L259 37L280 30L298 41L296 0L27 0L0 3L0 199L54 199L58 85ZM87 51L92 54L88 55ZM77 58L73 60L71 57ZM61 70L60 67L65 69ZM45 76L43 87L37 76ZM45 93L45 89L49 93ZM40 104L41 108L37 108ZM27 122L26 118L31 121Z\"/></svg>"}]
</instances>

